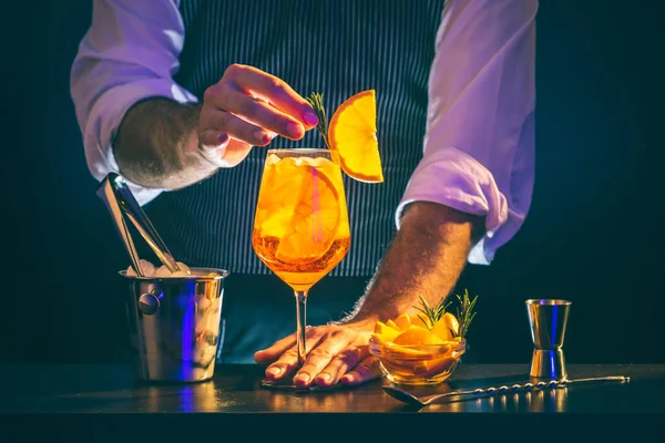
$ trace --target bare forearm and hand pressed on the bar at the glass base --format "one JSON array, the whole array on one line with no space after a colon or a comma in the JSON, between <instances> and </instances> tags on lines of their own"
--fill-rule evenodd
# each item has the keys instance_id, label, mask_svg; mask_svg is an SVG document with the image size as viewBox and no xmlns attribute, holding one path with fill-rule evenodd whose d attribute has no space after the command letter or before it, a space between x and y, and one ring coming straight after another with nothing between
<instances>
[{"instance_id":1,"label":"bare forearm and hand pressed on the bar at the glass base","mask_svg":"<svg viewBox=\"0 0 665 443\"><path fill-rule=\"evenodd\" d=\"M340 326L307 330L307 360L297 368L296 336L258 351L254 359L269 364L272 380L294 377L297 387L313 382L328 387L340 381L358 384L380 375L369 353L369 337L376 320L386 321L402 312L417 313L421 296L436 305L450 293L464 265L472 238L482 229L482 218L443 205L418 202L409 205L401 229L382 259L359 309ZM329 375L329 378L327 377Z\"/></svg>"}]
</instances>

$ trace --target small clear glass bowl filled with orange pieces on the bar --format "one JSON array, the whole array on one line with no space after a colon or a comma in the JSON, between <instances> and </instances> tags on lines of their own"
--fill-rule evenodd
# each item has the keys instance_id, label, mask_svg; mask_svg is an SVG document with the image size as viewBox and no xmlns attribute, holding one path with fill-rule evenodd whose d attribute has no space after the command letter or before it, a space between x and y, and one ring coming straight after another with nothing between
<instances>
[{"instance_id":1,"label":"small clear glass bowl filled with orange pieces on the bar","mask_svg":"<svg viewBox=\"0 0 665 443\"><path fill-rule=\"evenodd\" d=\"M448 380L467 351L464 339L442 344L399 346L369 341L388 380L400 384L439 384Z\"/></svg>"}]
</instances>

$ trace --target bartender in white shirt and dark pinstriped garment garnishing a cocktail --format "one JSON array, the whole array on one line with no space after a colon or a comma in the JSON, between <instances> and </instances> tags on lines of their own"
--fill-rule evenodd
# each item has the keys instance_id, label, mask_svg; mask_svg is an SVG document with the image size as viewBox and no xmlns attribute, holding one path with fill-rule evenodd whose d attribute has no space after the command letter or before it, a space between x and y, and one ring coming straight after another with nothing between
<instances>
[{"instance_id":1,"label":"bartender in white shirt and dark pinstriped garment garnishing a cocktail","mask_svg":"<svg viewBox=\"0 0 665 443\"><path fill-rule=\"evenodd\" d=\"M273 380L379 375L376 320L436 303L522 226L534 179L536 0L95 0L71 71L91 174L117 172L178 261L232 271L223 362ZM385 183L345 177L352 246L293 293L252 249L265 146L320 146L304 96L377 93ZM260 100L257 100L260 99ZM317 138L319 137L319 138Z\"/></svg>"}]
</instances>

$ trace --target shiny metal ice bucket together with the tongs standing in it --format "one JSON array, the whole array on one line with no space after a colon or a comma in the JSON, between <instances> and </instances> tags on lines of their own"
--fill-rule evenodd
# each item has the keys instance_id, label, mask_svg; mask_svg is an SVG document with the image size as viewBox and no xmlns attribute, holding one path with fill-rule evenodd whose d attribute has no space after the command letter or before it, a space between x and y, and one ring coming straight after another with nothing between
<instances>
[{"instance_id":1,"label":"shiny metal ice bucket together with the tongs standing in it","mask_svg":"<svg viewBox=\"0 0 665 443\"><path fill-rule=\"evenodd\" d=\"M129 284L124 297L139 378L173 382L211 379L221 341L222 295L228 271L181 268L184 264L175 260L119 174L109 173L96 194L109 208L131 260L127 270L133 272L119 274ZM143 267L129 222L167 274L155 277Z\"/></svg>"}]
</instances>

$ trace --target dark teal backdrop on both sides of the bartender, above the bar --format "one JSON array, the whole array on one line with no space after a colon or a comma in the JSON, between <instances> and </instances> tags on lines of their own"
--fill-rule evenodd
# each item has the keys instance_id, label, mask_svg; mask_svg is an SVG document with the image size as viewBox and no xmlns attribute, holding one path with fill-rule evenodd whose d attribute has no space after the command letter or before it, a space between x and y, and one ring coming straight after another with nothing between
<instances>
[{"instance_id":1,"label":"dark teal backdrop on both sides of the bartender, above the bar","mask_svg":"<svg viewBox=\"0 0 665 443\"><path fill-rule=\"evenodd\" d=\"M32 1L2 27L0 361L111 361L127 266L94 194L69 95L90 1ZM531 213L489 267L469 339L481 362L529 362L528 298L573 301L570 363L665 362L663 7L541 0ZM266 307L269 316L269 307Z\"/></svg>"}]
</instances>

